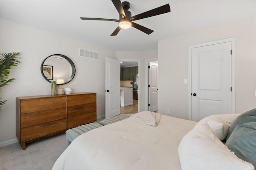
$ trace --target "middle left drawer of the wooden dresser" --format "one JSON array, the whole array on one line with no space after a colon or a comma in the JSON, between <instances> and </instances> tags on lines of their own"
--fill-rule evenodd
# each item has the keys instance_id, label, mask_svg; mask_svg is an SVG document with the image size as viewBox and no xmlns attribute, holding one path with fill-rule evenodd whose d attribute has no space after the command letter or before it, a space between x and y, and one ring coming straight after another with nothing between
<instances>
[{"instance_id":1,"label":"middle left drawer of the wooden dresser","mask_svg":"<svg viewBox=\"0 0 256 170\"><path fill-rule=\"evenodd\" d=\"M20 127L29 127L51 121L66 119L66 107L20 115Z\"/></svg>"}]
</instances>

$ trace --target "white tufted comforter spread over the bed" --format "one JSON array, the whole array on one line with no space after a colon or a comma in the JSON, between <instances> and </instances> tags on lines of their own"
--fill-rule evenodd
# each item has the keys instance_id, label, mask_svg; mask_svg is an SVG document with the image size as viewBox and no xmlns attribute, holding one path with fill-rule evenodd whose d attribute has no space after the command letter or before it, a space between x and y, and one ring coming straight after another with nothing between
<instances>
[{"instance_id":1,"label":"white tufted comforter spread over the bed","mask_svg":"<svg viewBox=\"0 0 256 170\"><path fill-rule=\"evenodd\" d=\"M157 126L130 117L78 136L53 170L180 170L177 148L196 122L161 115Z\"/></svg>"}]
</instances>

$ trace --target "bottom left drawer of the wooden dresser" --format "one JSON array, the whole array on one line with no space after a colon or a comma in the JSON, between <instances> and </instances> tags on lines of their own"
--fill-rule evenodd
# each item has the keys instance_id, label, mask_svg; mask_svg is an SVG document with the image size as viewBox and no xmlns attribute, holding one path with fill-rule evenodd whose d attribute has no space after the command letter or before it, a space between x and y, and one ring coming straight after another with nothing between
<instances>
[{"instance_id":1,"label":"bottom left drawer of the wooden dresser","mask_svg":"<svg viewBox=\"0 0 256 170\"><path fill-rule=\"evenodd\" d=\"M45 135L58 132L60 130L65 130L65 129L66 129L66 119L51 121L48 123L43 123L43 124L34 125L30 127L24 127L20 129L20 133L21 133L20 142L39 138L41 136L45 136Z\"/></svg>"}]
</instances>

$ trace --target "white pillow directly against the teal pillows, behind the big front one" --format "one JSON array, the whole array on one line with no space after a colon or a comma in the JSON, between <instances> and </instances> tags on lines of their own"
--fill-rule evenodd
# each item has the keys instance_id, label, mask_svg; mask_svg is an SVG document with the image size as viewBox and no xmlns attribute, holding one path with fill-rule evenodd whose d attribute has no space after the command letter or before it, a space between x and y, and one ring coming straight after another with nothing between
<instances>
[{"instance_id":1,"label":"white pillow directly against the teal pillows, behind the big front one","mask_svg":"<svg viewBox=\"0 0 256 170\"><path fill-rule=\"evenodd\" d=\"M218 118L216 115L205 117L204 119L200 120L197 125L202 123L207 123L210 126L212 132L214 132L214 134L220 140L224 140L226 138L230 124Z\"/></svg>"}]
</instances>

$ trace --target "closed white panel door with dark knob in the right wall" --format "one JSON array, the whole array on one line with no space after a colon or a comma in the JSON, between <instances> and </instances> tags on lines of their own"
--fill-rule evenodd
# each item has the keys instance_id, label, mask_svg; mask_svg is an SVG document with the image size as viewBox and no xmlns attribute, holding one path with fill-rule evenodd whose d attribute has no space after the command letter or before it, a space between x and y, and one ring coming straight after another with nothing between
<instances>
[{"instance_id":1,"label":"closed white panel door with dark knob in the right wall","mask_svg":"<svg viewBox=\"0 0 256 170\"><path fill-rule=\"evenodd\" d=\"M192 48L192 121L231 113L231 42Z\"/></svg>"}]
</instances>

